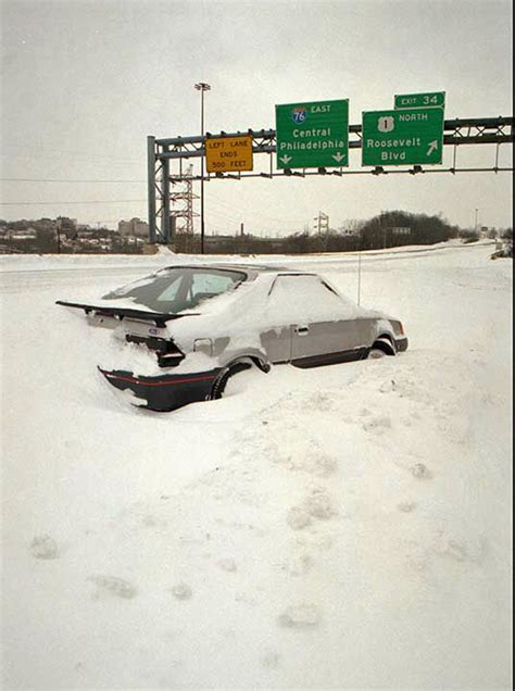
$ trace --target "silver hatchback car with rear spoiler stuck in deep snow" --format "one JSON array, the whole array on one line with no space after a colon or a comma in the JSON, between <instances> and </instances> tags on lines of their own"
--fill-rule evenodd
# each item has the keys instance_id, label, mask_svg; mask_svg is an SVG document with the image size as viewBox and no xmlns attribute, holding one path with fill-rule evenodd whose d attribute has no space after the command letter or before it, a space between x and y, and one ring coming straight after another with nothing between
<instances>
[{"instance_id":1,"label":"silver hatchback car with rear spoiler stuck in deep snow","mask_svg":"<svg viewBox=\"0 0 515 691\"><path fill-rule=\"evenodd\" d=\"M359 306L316 274L280 267L169 266L95 304L58 304L112 327L120 360L99 369L152 411L218 399L252 366L317 367L407 348L398 319Z\"/></svg>"}]
</instances>

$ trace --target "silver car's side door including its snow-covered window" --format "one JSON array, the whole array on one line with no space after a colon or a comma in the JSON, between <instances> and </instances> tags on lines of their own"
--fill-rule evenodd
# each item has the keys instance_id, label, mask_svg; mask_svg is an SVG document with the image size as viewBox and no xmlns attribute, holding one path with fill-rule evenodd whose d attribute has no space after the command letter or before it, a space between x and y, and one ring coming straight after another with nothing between
<instances>
[{"instance_id":1,"label":"silver car's side door including its snow-covered window","mask_svg":"<svg viewBox=\"0 0 515 691\"><path fill-rule=\"evenodd\" d=\"M353 303L319 276L279 275L269 296L271 315L290 327L293 364L304 367L356 360L362 343Z\"/></svg>"}]
</instances>

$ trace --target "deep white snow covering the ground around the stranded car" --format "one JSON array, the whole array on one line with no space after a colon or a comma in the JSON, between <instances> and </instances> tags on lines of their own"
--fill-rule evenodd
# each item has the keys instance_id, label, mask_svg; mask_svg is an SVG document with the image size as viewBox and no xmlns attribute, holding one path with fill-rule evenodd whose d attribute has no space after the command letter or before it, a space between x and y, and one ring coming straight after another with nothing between
<instances>
[{"instance_id":1,"label":"deep white snow covering the ground around the stranded car","mask_svg":"<svg viewBox=\"0 0 515 691\"><path fill-rule=\"evenodd\" d=\"M243 373L171 414L122 405L98 329L54 301L174 257L1 257L3 688L511 688L492 251L363 254L362 304L406 353ZM266 261L355 298L356 255Z\"/></svg>"}]
</instances>

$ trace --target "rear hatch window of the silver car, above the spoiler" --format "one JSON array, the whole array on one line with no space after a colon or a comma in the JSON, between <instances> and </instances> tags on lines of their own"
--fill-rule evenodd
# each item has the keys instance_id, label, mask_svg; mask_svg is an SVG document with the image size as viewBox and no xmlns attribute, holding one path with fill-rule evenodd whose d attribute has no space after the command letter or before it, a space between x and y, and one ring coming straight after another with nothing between
<instances>
[{"instance_id":1,"label":"rear hatch window of the silver car, above the spoiler","mask_svg":"<svg viewBox=\"0 0 515 691\"><path fill-rule=\"evenodd\" d=\"M153 312L175 314L236 288L246 278L241 272L218 268L166 268L113 290L103 300L128 299Z\"/></svg>"}]
</instances>

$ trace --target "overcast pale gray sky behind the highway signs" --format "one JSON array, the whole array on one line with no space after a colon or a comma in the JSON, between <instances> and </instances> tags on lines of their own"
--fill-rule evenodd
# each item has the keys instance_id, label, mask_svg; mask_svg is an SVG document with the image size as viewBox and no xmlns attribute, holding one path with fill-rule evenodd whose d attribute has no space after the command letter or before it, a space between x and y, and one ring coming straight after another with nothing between
<instances>
[{"instance_id":1,"label":"overcast pale gray sky behind the highway signs","mask_svg":"<svg viewBox=\"0 0 515 691\"><path fill-rule=\"evenodd\" d=\"M1 9L3 218L62 214L112 227L146 218L147 136L200 133L199 80L212 86L211 133L275 127L276 103L339 98L354 124L362 111L392 108L395 93L436 90L447 92L448 118L512 115L504 0L9 0ZM512 155L501 147L501 164ZM494 147L459 150L459 166L493 162ZM70 181L39 181L49 179ZM510 173L213 180L205 227L235 233L244 222L275 235L312 225L318 211L338 227L393 209L441 212L462 226L478 209L481 225L507 227L511 187Z\"/></svg>"}]
</instances>

